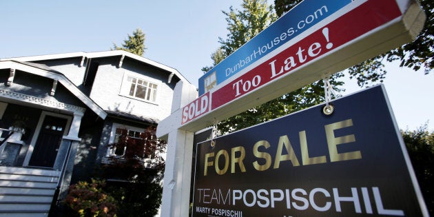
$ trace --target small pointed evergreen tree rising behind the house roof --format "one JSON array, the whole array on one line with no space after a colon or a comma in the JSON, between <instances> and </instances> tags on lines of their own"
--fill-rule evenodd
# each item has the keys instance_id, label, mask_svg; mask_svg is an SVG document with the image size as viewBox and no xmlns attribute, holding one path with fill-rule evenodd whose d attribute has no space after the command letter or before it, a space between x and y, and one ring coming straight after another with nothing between
<instances>
[{"instance_id":1,"label":"small pointed evergreen tree rising behind the house roof","mask_svg":"<svg viewBox=\"0 0 434 217\"><path fill-rule=\"evenodd\" d=\"M132 35L128 34L128 38L123 40L122 47L118 47L113 43L114 50L125 50L138 56L142 56L145 53L145 33L140 28L134 30Z\"/></svg>"}]
</instances>

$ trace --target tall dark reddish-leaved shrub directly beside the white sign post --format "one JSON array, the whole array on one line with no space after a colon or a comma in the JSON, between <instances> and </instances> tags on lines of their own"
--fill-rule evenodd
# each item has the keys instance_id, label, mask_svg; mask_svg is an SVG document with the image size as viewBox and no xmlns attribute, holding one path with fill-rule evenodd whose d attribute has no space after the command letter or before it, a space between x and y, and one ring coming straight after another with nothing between
<instances>
[{"instance_id":1,"label":"tall dark reddish-leaved shrub directly beside the white sign post","mask_svg":"<svg viewBox=\"0 0 434 217\"><path fill-rule=\"evenodd\" d=\"M161 205L165 161L162 154L167 143L156 138L156 127L149 127L139 138L121 130L118 141L110 147L125 149L123 157L111 158L104 167L104 177L123 182L109 183L110 192L118 201L118 216L155 216Z\"/></svg>"}]
</instances>

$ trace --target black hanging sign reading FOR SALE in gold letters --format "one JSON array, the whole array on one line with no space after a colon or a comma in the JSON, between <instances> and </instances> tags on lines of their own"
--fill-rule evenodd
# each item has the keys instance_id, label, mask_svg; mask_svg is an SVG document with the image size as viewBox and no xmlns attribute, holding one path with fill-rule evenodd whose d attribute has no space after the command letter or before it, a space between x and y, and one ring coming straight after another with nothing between
<instances>
[{"instance_id":1,"label":"black hanging sign reading FOR SALE in gold letters","mask_svg":"<svg viewBox=\"0 0 434 217\"><path fill-rule=\"evenodd\" d=\"M200 143L192 216L428 216L382 85Z\"/></svg>"}]
</instances>

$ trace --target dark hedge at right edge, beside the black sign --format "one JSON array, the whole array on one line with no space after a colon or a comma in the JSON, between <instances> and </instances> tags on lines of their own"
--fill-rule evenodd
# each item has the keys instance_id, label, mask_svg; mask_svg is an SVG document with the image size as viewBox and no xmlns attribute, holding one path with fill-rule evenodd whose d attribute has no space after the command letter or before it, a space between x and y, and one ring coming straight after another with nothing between
<instances>
[{"instance_id":1,"label":"dark hedge at right edge, beside the black sign","mask_svg":"<svg viewBox=\"0 0 434 217\"><path fill-rule=\"evenodd\" d=\"M414 131L402 132L402 138L415 170L422 194L431 216L434 214L434 132L424 125Z\"/></svg>"}]
</instances>

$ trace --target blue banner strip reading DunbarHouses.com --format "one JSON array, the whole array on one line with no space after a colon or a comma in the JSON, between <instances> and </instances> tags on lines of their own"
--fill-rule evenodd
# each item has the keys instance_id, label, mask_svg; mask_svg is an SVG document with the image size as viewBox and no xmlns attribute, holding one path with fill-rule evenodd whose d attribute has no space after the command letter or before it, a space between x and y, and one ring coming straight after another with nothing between
<instances>
[{"instance_id":1,"label":"blue banner strip reading DunbarHouses.com","mask_svg":"<svg viewBox=\"0 0 434 217\"><path fill-rule=\"evenodd\" d=\"M329 17L352 0L305 0L201 76L199 96Z\"/></svg>"}]
</instances>

